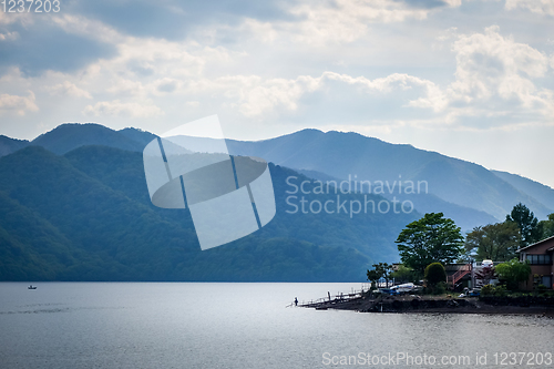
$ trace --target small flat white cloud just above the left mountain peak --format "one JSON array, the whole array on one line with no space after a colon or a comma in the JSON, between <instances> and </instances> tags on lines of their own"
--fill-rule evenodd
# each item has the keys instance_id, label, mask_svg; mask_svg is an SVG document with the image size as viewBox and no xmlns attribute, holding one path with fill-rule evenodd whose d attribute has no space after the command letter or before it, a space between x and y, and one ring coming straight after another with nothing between
<instances>
[{"instance_id":1,"label":"small flat white cloud just above the left mountain peak","mask_svg":"<svg viewBox=\"0 0 554 369\"><path fill-rule=\"evenodd\" d=\"M88 105L83 114L93 116L131 116L131 117L153 117L163 115L164 112L153 104L123 103L120 100L101 101L94 105Z\"/></svg>"}]
</instances>

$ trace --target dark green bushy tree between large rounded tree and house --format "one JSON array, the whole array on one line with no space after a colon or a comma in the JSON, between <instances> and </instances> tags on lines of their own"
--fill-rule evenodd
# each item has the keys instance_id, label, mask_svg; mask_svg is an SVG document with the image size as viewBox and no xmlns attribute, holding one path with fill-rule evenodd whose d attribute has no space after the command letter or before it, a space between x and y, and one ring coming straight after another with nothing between
<instances>
[{"instance_id":1,"label":"dark green bushy tree between large rounded tree and house","mask_svg":"<svg viewBox=\"0 0 554 369\"><path fill-rule=\"evenodd\" d=\"M520 228L514 222L475 227L465 237L468 252L476 248L480 259L505 262L515 257L521 243Z\"/></svg>"}]
</instances>

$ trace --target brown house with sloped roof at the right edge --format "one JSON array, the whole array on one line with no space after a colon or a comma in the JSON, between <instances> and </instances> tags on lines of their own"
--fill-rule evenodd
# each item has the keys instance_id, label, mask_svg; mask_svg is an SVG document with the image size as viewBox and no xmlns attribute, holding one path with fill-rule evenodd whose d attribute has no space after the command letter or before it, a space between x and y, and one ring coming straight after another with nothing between
<instances>
[{"instance_id":1,"label":"brown house with sloped roof at the right edge","mask_svg":"<svg viewBox=\"0 0 554 369\"><path fill-rule=\"evenodd\" d=\"M520 248L520 262L529 260L531 275L524 283L524 289L533 289L538 285L554 288L554 236L540 240L536 244Z\"/></svg>"}]
</instances>

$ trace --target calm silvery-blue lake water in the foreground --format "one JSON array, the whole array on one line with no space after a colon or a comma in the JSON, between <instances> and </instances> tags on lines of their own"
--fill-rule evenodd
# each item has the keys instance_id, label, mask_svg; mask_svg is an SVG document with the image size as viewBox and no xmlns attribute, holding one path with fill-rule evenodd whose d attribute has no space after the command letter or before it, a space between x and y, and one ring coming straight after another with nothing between
<instances>
[{"instance_id":1,"label":"calm silvery-blue lake water in the foreground","mask_svg":"<svg viewBox=\"0 0 554 369\"><path fill-rule=\"evenodd\" d=\"M495 366L493 355L554 351L548 318L286 308L295 296L312 299L359 284L38 286L0 284L0 368L345 368L324 362L356 356L360 363L360 353L389 352L414 362L423 355L468 356L471 368L486 352L481 368L516 368L501 366L501 356ZM348 368L358 367L350 360ZM373 367L394 367L389 363Z\"/></svg>"}]
</instances>

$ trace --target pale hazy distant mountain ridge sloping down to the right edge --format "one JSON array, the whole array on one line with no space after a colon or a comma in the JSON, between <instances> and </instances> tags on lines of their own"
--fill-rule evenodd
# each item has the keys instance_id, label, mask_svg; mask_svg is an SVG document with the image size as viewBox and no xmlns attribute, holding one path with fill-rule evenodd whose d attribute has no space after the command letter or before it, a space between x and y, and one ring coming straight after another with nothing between
<instances>
[{"instance_id":1,"label":"pale hazy distant mountain ridge sloping down to the right edge","mask_svg":"<svg viewBox=\"0 0 554 369\"><path fill-rule=\"evenodd\" d=\"M228 140L227 144L234 154L259 156L279 165L317 171L340 180L356 175L358 181L373 184L427 183L417 194L432 194L444 202L486 213L495 221L503 221L520 202L540 218L553 212L533 197L534 193L519 189L481 165L358 133L304 130L257 142ZM479 225L471 219L473 214L469 216L455 221Z\"/></svg>"}]
</instances>

